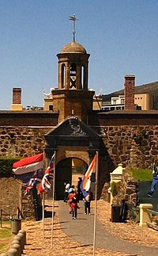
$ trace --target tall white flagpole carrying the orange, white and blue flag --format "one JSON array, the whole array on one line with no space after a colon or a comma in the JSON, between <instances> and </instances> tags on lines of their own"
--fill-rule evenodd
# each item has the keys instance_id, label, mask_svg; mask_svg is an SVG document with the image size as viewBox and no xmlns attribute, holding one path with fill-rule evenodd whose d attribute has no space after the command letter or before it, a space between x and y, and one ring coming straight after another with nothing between
<instances>
[{"instance_id":1,"label":"tall white flagpole carrying the orange, white and blue flag","mask_svg":"<svg viewBox=\"0 0 158 256\"><path fill-rule=\"evenodd\" d=\"M94 207L94 229L93 229L93 256L95 255L96 247L96 197L97 197L97 182L98 182L98 151L96 151L96 183L95 183L95 207Z\"/></svg>"}]
</instances>

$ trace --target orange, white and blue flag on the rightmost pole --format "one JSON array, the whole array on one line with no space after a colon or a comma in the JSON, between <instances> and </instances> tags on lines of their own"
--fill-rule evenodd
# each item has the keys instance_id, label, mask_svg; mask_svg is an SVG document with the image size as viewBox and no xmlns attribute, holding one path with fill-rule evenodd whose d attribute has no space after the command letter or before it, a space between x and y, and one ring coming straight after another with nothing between
<instances>
[{"instance_id":1,"label":"orange, white and blue flag on the rightmost pole","mask_svg":"<svg viewBox=\"0 0 158 256\"><path fill-rule=\"evenodd\" d=\"M85 177L81 181L80 189L84 197L88 196L91 188L92 173L96 172L96 155L92 159L91 164L88 166L88 170L85 173Z\"/></svg>"}]
</instances>

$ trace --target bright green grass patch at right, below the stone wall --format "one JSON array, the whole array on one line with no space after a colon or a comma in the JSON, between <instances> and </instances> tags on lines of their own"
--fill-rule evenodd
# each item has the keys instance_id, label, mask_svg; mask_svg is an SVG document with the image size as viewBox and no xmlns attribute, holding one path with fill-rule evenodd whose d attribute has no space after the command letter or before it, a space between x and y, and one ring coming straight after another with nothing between
<instances>
[{"instance_id":1,"label":"bright green grass patch at right, below the stone wall","mask_svg":"<svg viewBox=\"0 0 158 256\"><path fill-rule=\"evenodd\" d=\"M135 181L152 181L152 170L132 169L131 174Z\"/></svg>"}]
</instances>

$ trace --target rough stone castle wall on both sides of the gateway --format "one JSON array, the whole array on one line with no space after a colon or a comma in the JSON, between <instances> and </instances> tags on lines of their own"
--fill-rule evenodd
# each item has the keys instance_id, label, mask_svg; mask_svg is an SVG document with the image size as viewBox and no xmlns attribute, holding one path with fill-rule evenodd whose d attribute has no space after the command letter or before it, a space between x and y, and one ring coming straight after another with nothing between
<instances>
[{"instance_id":1,"label":"rough stone castle wall on both sides of the gateway","mask_svg":"<svg viewBox=\"0 0 158 256\"><path fill-rule=\"evenodd\" d=\"M151 165L158 154L158 114L141 113L101 113L97 117L89 116L89 124L102 136L107 151L102 162L106 162L106 158L111 159L114 169L120 162L124 167L146 168ZM31 126L31 120L34 126ZM25 157L43 151L46 146L44 136L55 128L57 120L55 113L1 113L0 125L5 125L0 126L0 156ZM143 125L143 122L152 124ZM25 123L28 126L25 126ZM12 126L8 126L9 124ZM101 151L102 148L100 154L103 155Z\"/></svg>"}]
</instances>

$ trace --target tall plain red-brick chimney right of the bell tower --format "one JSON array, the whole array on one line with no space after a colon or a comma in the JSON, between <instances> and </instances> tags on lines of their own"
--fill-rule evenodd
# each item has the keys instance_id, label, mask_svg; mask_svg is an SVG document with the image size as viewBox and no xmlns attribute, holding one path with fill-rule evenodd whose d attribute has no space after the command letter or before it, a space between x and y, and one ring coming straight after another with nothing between
<instances>
[{"instance_id":1,"label":"tall plain red-brick chimney right of the bell tower","mask_svg":"<svg viewBox=\"0 0 158 256\"><path fill-rule=\"evenodd\" d=\"M135 76L125 76L125 110L134 110Z\"/></svg>"}]
</instances>

